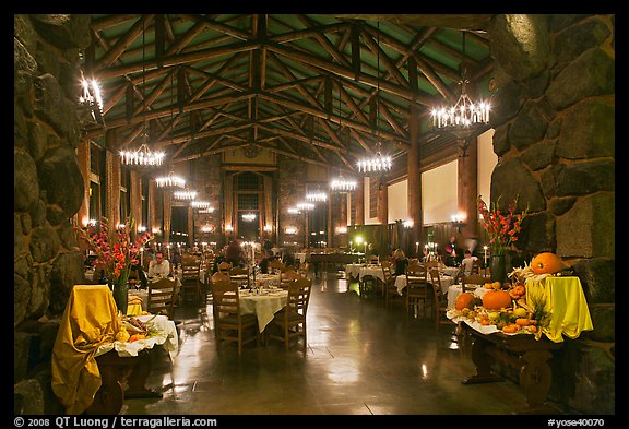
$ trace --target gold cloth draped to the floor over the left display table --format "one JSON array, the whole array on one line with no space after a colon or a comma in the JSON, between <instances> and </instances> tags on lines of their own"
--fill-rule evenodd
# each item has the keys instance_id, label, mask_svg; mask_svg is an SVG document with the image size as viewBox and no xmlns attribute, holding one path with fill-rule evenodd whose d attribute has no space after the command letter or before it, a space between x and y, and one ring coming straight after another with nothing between
<instances>
[{"instance_id":1,"label":"gold cloth draped to the floor over the left display table","mask_svg":"<svg viewBox=\"0 0 629 429\"><path fill-rule=\"evenodd\" d=\"M83 413L100 389L96 351L116 339L118 309L107 285L74 285L52 348L52 391L69 415Z\"/></svg>"}]
</instances>

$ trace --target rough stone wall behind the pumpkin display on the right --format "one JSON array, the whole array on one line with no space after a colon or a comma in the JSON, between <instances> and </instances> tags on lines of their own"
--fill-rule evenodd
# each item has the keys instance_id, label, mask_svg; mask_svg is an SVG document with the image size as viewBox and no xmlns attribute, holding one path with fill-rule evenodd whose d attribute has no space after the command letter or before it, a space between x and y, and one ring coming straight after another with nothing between
<instances>
[{"instance_id":1,"label":"rough stone wall behind the pumpkin display on the right","mask_svg":"<svg viewBox=\"0 0 629 429\"><path fill-rule=\"evenodd\" d=\"M497 15L488 32L498 87L491 195L529 204L519 248L571 265L594 324L553 362L551 393L579 412L613 414L615 17Z\"/></svg>"}]
</instances>

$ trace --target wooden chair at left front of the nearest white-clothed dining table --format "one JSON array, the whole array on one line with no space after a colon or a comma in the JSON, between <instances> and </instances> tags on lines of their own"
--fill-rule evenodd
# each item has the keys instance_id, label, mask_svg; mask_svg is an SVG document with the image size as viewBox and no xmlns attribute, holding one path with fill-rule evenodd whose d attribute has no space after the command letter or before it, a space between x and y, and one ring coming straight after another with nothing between
<instances>
[{"instance_id":1,"label":"wooden chair at left front of the nearest white-clothed dining table","mask_svg":"<svg viewBox=\"0 0 629 429\"><path fill-rule=\"evenodd\" d=\"M258 319L256 314L240 313L238 285L219 279L212 282L211 288L216 346L221 347L224 342L234 342L238 345L238 356L240 356L242 345L252 341L259 345ZM246 336L246 332L249 330L256 331L254 335Z\"/></svg>"}]
</instances>

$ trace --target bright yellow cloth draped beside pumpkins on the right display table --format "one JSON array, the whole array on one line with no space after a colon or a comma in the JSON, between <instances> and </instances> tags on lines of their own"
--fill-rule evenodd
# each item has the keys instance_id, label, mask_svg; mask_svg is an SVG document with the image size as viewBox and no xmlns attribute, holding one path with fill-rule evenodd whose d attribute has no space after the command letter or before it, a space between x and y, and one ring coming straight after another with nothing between
<instances>
[{"instance_id":1,"label":"bright yellow cloth draped beside pumpkins on the right display table","mask_svg":"<svg viewBox=\"0 0 629 429\"><path fill-rule=\"evenodd\" d=\"M574 339L582 331L592 331L592 319L581 281L575 276L555 277L526 281L526 303L531 305L532 297L542 295L551 312L548 326L542 329L548 339L560 343L562 335Z\"/></svg>"}]
</instances>

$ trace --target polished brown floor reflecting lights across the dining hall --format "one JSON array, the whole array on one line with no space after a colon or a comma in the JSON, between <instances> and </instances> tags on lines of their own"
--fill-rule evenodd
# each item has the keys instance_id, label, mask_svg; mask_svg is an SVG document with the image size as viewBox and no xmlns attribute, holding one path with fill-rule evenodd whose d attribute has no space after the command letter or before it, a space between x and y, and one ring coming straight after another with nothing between
<instances>
[{"instance_id":1,"label":"polished brown floor reflecting lights across the dining hall","mask_svg":"<svg viewBox=\"0 0 629 429\"><path fill-rule=\"evenodd\" d=\"M310 274L312 276L312 274ZM147 386L124 415L509 415L524 405L512 381L463 385L474 373L453 329L360 298L340 273L313 278L307 354L278 342L216 347L211 303L177 308L179 354L154 354ZM159 350L161 351L161 350Z\"/></svg>"}]
</instances>

